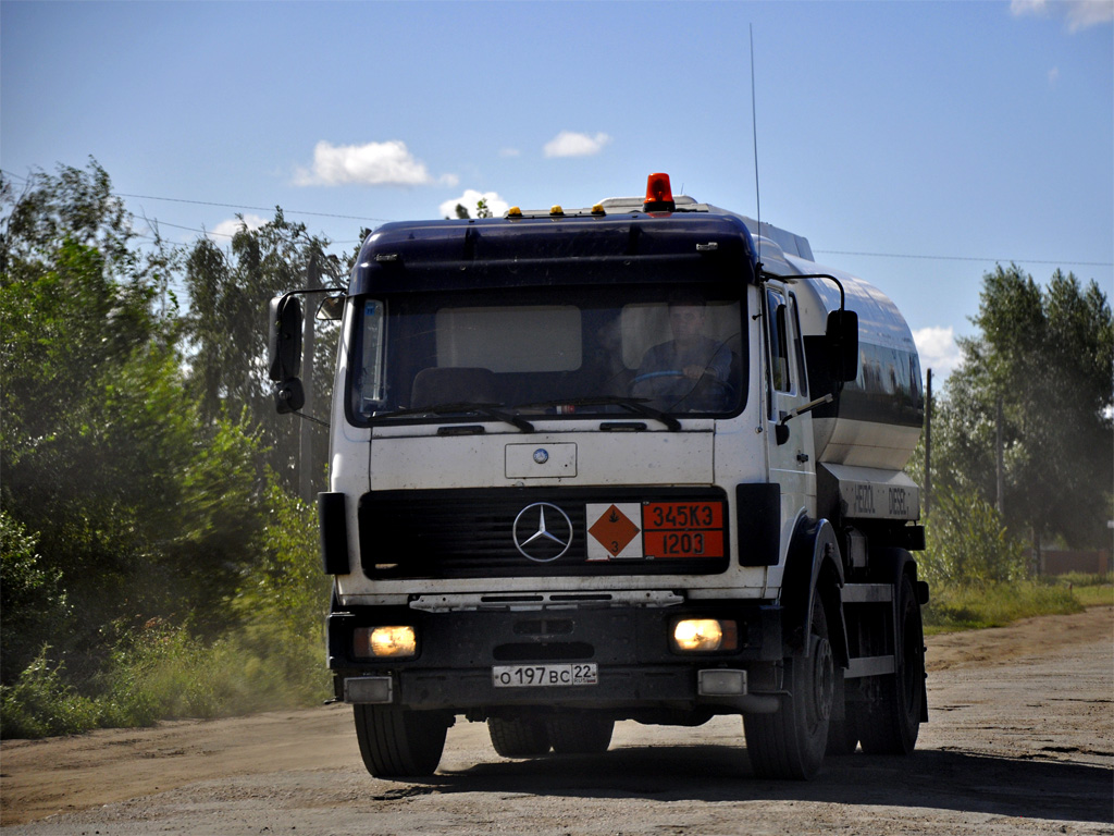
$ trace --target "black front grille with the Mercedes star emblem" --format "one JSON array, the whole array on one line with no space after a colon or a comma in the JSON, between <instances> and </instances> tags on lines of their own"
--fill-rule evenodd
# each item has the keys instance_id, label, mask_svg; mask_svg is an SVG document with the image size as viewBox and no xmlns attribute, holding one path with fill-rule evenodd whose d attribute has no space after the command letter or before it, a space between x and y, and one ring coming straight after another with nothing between
<instances>
[{"instance_id":1,"label":"black front grille with the Mercedes star emblem","mask_svg":"<svg viewBox=\"0 0 1114 836\"><path fill-rule=\"evenodd\" d=\"M722 532L717 528L707 537L709 556L652 554L612 560L606 553L600 556L600 546L588 547L588 528L596 522L587 519L589 505L652 508L661 503L697 502L722 506L716 516ZM515 521L520 514L519 545L529 557L515 543ZM547 515L544 522L541 515ZM726 497L714 488L375 492L364 494L359 504L361 566L373 579L713 574L727 567L727 517ZM694 538L675 541L693 548ZM664 538L645 542L659 548Z\"/></svg>"}]
</instances>

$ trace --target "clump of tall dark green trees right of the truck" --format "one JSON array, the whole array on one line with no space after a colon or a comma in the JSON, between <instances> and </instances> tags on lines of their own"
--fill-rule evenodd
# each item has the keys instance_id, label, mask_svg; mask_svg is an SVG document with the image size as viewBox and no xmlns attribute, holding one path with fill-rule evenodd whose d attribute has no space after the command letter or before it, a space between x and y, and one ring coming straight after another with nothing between
<instances>
[{"instance_id":1,"label":"clump of tall dark green trees right of the truck","mask_svg":"<svg viewBox=\"0 0 1114 836\"><path fill-rule=\"evenodd\" d=\"M1076 547L1106 542L1114 482L1114 322L1092 281L1056 271L1046 288L1017 266L983 281L980 333L962 340L934 427L934 484L997 496L997 405L1003 408L1004 519Z\"/></svg>"}]
</instances>

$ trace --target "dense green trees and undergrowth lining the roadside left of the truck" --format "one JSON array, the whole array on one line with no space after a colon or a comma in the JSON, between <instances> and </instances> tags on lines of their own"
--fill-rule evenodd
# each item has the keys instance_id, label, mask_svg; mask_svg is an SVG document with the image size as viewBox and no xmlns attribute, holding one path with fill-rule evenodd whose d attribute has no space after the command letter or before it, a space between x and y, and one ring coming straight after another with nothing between
<instances>
[{"instance_id":1,"label":"dense green trees and undergrowth lining the roadside left of the truck","mask_svg":"<svg viewBox=\"0 0 1114 836\"><path fill-rule=\"evenodd\" d=\"M323 246L281 212L228 252L140 246L95 161L0 177L0 735L321 692L328 579L263 354L271 294L342 273Z\"/></svg>"}]
</instances>

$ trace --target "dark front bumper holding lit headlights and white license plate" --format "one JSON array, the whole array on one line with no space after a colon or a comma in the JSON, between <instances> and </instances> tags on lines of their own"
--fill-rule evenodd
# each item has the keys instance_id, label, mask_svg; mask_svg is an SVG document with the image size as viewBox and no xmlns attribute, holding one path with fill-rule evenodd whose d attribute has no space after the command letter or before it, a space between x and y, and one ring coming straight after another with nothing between
<instances>
[{"instance_id":1,"label":"dark front bumper holding lit headlights and white license plate","mask_svg":"<svg viewBox=\"0 0 1114 836\"><path fill-rule=\"evenodd\" d=\"M737 624L737 649L682 653L670 643L684 618L716 618ZM418 654L409 660L356 659L359 628L410 624ZM614 607L530 612L420 612L407 607L352 607L329 616L329 667L336 697L350 702L389 702L411 710L456 713L499 708L639 710L762 710L755 691L773 691L782 658L781 609L716 601L663 609ZM497 688L492 668L514 664L590 662L590 686ZM714 681L739 682L733 693L710 693ZM737 671L737 675L726 672ZM702 686L702 682L705 684ZM752 699L745 699L753 697Z\"/></svg>"}]
</instances>

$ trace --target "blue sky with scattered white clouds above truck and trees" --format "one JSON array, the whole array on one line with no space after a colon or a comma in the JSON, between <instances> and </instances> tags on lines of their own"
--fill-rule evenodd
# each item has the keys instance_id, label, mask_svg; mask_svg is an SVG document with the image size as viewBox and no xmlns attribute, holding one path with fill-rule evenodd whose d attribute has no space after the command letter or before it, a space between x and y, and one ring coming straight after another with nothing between
<instances>
[{"instance_id":1,"label":"blue sky with scattered white clouds above truck and trees","mask_svg":"<svg viewBox=\"0 0 1114 836\"><path fill-rule=\"evenodd\" d=\"M666 172L881 289L942 380L997 264L1114 295L1112 21L1114 0L0 0L0 168L18 188L91 156L138 233L227 245L282 206L338 253Z\"/></svg>"}]
</instances>

